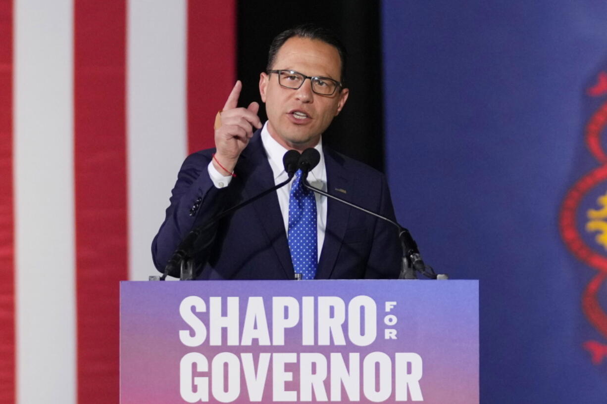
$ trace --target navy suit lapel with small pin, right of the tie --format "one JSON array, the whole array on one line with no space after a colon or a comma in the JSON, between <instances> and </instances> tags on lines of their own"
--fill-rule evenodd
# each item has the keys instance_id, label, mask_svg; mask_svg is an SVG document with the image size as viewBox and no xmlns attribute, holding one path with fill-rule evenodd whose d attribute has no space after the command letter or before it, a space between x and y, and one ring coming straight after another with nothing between
<instances>
[{"instance_id":1,"label":"navy suit lapel with small pin, right of the tie","mask_svg":"<svg viewBox=\"0 0 607 404\"><path fill-rule=\"evenodd\" d=\"M346 195L340 195L335 189L348 189L350 187L350 177L344 169L344 160L324 147L325 167L327 169L327 192L336 195L342 199ZM328 198L327 201L327 229L325 230L325 241L322 246L322 253L318 268L316 270L317 279L328 279L333 273L336 265L337 254L341 249L345 230L348 227L348 218L351 208L339 201Z\"/></svg>"}]
</instances>

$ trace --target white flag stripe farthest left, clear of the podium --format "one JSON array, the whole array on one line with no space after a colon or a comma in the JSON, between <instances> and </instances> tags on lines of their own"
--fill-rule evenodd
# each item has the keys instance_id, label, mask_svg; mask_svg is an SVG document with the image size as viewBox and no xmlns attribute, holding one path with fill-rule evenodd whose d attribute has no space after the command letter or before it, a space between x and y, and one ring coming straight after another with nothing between
<instances>
[{"instance_id":1,"label":"white flag stripe farthest left, clear of the podium","mask_svg":"<svg viewBox=\"0 0 607 404\"><path fill-rule=\"evenodd\" d=\"M73 4L15 2L17 398L75 403Z\"/></svg>"}]
</instances>

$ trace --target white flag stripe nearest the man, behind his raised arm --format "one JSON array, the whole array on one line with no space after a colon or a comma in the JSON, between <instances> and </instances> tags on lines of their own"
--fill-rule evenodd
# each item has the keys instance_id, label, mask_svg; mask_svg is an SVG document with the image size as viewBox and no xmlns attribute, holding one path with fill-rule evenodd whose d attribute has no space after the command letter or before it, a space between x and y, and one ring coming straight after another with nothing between
<instances>
[{"instance_id":1,"label":"white flag stripe nearest the man, behind his raised arm","mask_svg":"<svg viewBox=\"0 0 607 404\"><path fill-rule=\"evenodd\" d=\"M131 0L127 21L129 277L155 275L152 238L187 150L187 5ZM209 61L210 62L210 61Z\"/></svg>"}]
</instances>

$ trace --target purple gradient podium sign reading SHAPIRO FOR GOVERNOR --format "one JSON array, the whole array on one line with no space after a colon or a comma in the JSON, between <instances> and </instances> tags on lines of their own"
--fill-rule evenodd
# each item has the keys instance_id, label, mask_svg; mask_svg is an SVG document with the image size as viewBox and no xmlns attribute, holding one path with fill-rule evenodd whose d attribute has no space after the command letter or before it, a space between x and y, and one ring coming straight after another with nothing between
<instances>
[{"instance_id":1,"label":"purple gradient podium sign reading SHAPIRO FOR GOVERNOR","mask_svg":"<svg viewBox=\"0 0 607 404\"><path fill-rule=\"evenodd\" d=\"M120 285L122 404L478 397L478 281Z\"/></svg>"}]
</instances>

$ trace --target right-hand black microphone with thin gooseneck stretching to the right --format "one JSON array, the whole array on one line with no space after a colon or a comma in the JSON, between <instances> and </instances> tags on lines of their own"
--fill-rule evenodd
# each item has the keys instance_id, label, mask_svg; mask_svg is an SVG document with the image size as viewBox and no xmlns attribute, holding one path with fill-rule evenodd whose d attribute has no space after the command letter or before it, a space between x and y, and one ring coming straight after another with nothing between
<instances>
[{"instance_id":1,"label":"right-hand black microphone with thin gooseneck stretching to the right","mask_svg":"<svg viewBox=\"0 0 607 404\"><path fill-rule=\"evenodd\" d=\"M400 224L388 219L387 217L376 214L375 212L371 212L371 210L365 209L364 207L358 206L357 204L342 200L342 198L328 194L324 190L318 189L308 184L308 172L310 172L314 167L316 167L319 161L320 153L313 147L305 149L304 152L302 152L302 155L299 158L299 168L304 174L302 175L302 183L304 184L304 186L308 189L313 190L314 192L317 192L320 195L324 195L325 197L332 198L336 201L347 204L348 206L362 210L367 214L373 215L377 218L387 221L388 223L393 224L393 226L396 226L398 228L398 237L401 240L402 247L401 278L416 279L417 277L415 275L415 271L419 271L427 277L434 279L436 279L437 276L444 276L436 275L432 267L426 266L426 263L424 263L424 260L422 260L421 255L419 254L417 243L415 243L415 240L413 240L413 237L411 236L409 230L405 229L405 227L402 227ZM432 272L426 272L426 268L430 269L430 271ZM411 271L411 269L413 269L413 271Z\"/></svg>"}]
</instances>

